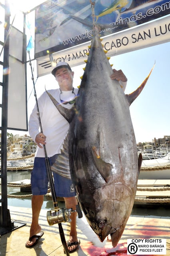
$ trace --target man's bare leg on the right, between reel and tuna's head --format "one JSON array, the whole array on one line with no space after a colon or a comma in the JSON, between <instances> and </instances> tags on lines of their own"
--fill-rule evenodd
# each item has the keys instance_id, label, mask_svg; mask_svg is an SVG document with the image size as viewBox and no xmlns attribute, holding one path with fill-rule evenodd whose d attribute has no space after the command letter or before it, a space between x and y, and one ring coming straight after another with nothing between
<instances>
[{"instance_id":1,"label":"man's bare leg on the right, between reel and tuna's head","mask_svg":"<svg viewBox=\"0 0 170 256\"><path fill-rule=\"evenodd\" d=\"M66 208L70 209L72 208L73 210L76 210L76 205L77 205L77 200L76 197L64 197L64 200L66 202ZM70 219L72 220L70 222L70 238L69 238L69 242L78 242L77 239L77 231L76 231L76 216L77 216L77 212L72 212ZM76 248L76 245L73 246L69 246L68 250L74 250L74 248Z\"/></svg>"}]
</instances>

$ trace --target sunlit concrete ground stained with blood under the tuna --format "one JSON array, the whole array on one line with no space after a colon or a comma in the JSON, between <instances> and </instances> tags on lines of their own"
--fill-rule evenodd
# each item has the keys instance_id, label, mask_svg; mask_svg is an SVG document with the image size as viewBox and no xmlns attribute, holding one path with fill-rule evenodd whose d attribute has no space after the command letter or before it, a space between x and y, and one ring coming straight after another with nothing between
<instances>
[{"instance_id":1,"label":"sunlit concrete ground stained with blood under the tuna","mask_svg":"<svg viewBox=\"0 0 170 256\"><path fill-rule=\"evenodd\" d=\"M1 235L0 237L0 256L62 256L64 254L58 224L49 226L46 220L47 210L40 212L40 225L44 231L44 236L38 244L32 248L26 248L25 243L29 237L32 210L30 208L21 208L9 206L11 220L14 224L24 223L22 226L12 232ZM62 223L66 240L68 240L69 223ZM131 215L120 239L118 245L113 248L110 242L110 236L100 242L96 234L88 225L86 218L77 217L77 231L80 239L80 248L71 255L78 256L110 256L127 255L127 239L143 238L164 238L166 239L166 255L170 255L170 217L162 216L135 216ZM141 254L144 255L144 254ZM145 254L150 255L150 254ZM165 254L152 254L165 255Z\"/></svg>"}]
</instances>

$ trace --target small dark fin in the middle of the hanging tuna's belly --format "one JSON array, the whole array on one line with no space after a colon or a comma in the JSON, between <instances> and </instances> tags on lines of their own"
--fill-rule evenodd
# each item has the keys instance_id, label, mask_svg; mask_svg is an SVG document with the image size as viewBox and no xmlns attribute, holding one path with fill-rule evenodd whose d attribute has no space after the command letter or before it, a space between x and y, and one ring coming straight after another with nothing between
<instances>
[{"instance_id":1,"label":"small dark fin in the middle of the hanging tuna's belly","mask_svg":"<svg viewBox=\"0 0 170 256\"><path fill-rule=\"evenodd\" d=\"M104 180L108 182L109 176L111 175L111 171L112 171L112 164L106 163L104 162L104 160L100 158L100 156L97 154L96 147L92 147L92 156L93 156L93 162L96 169L102 175Z\"/></svg>"}]
</instances>

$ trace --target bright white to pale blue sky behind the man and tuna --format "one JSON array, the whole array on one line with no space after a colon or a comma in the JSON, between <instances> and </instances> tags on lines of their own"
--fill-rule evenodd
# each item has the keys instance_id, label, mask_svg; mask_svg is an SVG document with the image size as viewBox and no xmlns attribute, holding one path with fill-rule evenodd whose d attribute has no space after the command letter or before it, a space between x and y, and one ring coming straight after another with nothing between
<instances>
[{"instance_id":1,"label":"bright white to pale blue sky behind the man and tuna","mask_svg":"<svg viewBox=\"0 0 170 256\"><path fill-rule=\"evenodd\" d=\"M41 1L39 1L41 2ZM37 2L37 4L39 4ZM168 31L170 33L170 31ZM125 94L136 90L149 74L156 62L150 78L136 100L130 106L130 114L136 136L136 142L150 142L154 138L163 138L170 135L170 42L159 44L117 55L110 58L116 70L122 69L128 78ZM83 74L84 65L72 68L74 71L74 87L80 85L80 76ZM35 104L31 73L27 70L28 92L28 118ZM36 81L36 76L34 77ZM51 74L39 77L36 81L36 94L39 97L46 89L58 88L58 84ZM32 92L32 94L31 94ZM30 95L31 94L31 95ZM13 134L28 134L9 130Z\"/></svg>"}]
</instances>

